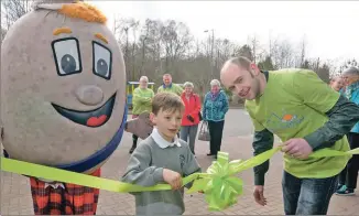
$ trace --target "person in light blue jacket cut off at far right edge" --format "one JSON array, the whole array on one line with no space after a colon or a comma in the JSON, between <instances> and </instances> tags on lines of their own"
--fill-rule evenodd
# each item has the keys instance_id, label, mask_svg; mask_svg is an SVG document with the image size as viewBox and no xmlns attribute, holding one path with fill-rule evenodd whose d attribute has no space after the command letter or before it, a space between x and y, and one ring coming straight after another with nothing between
<instances>
[{"instance_id":1,"label":"person in light blue jacket cut off at far right edge","mask_svg":"<svg viewBox=\"0 0 359 216\"><path fill-rule=\"evenodd\" d=\"M342 90L342 95L350 101L359 105L359 69L350 67L342 73L342 78L346 85L346 89ZM359 148L359 122L347 134L350 149ZM337 187L337 195L355 195L357 187L359 170L359 155L353 154L348 161L347 166L339 174L339 185Z\"/></svg>"}]
</instances>

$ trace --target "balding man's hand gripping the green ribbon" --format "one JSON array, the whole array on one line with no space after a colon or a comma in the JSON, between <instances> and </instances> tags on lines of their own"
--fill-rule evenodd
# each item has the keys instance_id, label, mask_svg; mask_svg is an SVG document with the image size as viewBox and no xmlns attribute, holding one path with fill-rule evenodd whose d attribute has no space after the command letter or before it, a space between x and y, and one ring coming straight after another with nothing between
<instances>
[{"instance_id":1,"label":"balding man's hand gripping the green ribbon","mask_svg":"<svg viewBox=\"0 0 359 216\"><path fill-rule=\"evenodd\" d=\"M307 159L313 149L305 139L293 138L284 142L282 151L295 159Z\"/></svg>"}]
</instances>

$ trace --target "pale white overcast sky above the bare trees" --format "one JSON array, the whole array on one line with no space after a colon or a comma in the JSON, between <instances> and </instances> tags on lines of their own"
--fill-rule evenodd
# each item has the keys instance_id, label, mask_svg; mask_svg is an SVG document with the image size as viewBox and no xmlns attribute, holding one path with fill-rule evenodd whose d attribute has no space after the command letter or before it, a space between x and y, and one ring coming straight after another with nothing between
<instances>
[{"instance_id":1,"label":"pale white overcast sky above the bare trees","mask_svg":"<svg viewBox=\"0 0 359 216\"><path fill-rule=\"evenodd\" d=\"M359 1L93 1L109 19L113 15L174 19L186 23L197 39L214 29L215 37L243 44L257 35L268 44L269 35L298 44L307 41L309 57L359 60Z\"/></svg>"}]
</instances>

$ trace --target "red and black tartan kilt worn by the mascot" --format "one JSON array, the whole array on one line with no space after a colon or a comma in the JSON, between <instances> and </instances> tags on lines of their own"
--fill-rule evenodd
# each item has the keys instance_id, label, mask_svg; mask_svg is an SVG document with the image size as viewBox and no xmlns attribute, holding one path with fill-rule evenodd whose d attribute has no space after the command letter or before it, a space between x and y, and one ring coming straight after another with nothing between
<instances>
[{"instance_id":1,"label":"red and black tartan kilt worn by the mascot","mask_svg":"<svg viewBox=\"0 0 359 216\"><path fill-rule=\"evenodd\" d=\"M90 175L100 176L100 169ZM35 215L96 215L99 190L63 183L65 188L47 186L30 177Z\"/></svg>"}]
</instances>

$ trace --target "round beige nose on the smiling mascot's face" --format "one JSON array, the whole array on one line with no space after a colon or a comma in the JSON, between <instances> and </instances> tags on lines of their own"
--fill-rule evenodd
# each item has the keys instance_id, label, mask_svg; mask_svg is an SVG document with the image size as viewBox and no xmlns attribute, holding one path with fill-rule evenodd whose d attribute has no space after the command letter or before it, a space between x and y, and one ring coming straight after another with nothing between
<instances>
[{"instance_id":1,"label":"round beige nose on the smiling mascot's face","mask_svg":"<svg viewBox=\"0 0 359 216\"><path fill-rule=\"evenodd\" d=\"M104 93L101 88L88 85L79 87L76 90L76 97L84 105L98 105L104 99Z\"/></svg>"}]
</instances>

